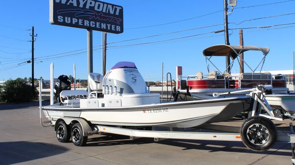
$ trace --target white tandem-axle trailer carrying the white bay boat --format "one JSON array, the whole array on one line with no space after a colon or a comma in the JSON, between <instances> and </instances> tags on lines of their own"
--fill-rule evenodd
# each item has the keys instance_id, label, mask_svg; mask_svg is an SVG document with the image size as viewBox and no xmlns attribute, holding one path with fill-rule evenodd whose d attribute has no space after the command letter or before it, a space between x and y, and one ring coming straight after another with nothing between
<instances>
[{"instance_id":1,"label":"white tandem-axle trailer carrying the white bay boat","mask_svg":"<svg viewBox=\"0 0 295 165\"><path fill-rule=\"evenodd\" d=\"M42 81L42 80L41 80ZM39 82L42 84L42 82ZM207 140L207 141L242 141L247 147L254 151L263 151L269 149L274 142L287 142L291 143L292 147L292 163L295 165L295 149L294 149L294 143L295 143L295 132L293 131L293 124L290 123L290 131L276 131L276 128L274 124L266 118L270 119L280 119L275 118L274 114L272 112L272 109L268 105L267 101L265 100L263 96L264 90L266 90L268 87L259 86L255 90L252 90L252 98L254 99L253 102L253 108L251 112L251 118L248 118L242 125L240 133L224 133L224 132L186 132L186 131L176 131L173 130L173 128L167 128L167 131L159 131L156 130L156 126L152 126L152 130L139 130L139 127L122 127L122 126L105 126L105 125L94 125L91 124L89 121L87 121L84 118L72 118L72 117L63 117L59 118L58 120L43 120L42 117L42 96L41 96L41 90L42 87L40 87L39 90L39 100L40 100L40 123L44 127L55 127L55 130L58 135L58 128L56 123L59 123L59 121L63 121L65 124L77 124L79 123L81 125L81 130L78 130L78 132L81 134L79 138L84 138L84 140L88 139L88 136L93 134L103 134L103 133L111 133L111 134L118 134L118 135L125 135L129 136L130 140L134 140L136 138L153 138L154 141L160 141L161 139L183 139L183 140ZM226 94L226 93L224 93ZM217 95L217 94L216 94ZM220 94L219 94L220 95ZM261 109L266 110L266 114L260 114ZM263 116L263 117L259 117ZM250 119L250 120L249 120ZM272 125L273 127L272 127ZM270 124L270 127L267 127L267 124ZM272 140L271 144L268 144L267 141L261 141L262 144L255 144L255 139L251 138L248 139L245 138L248 135L243 135L245 133L248 133L249 131L253 130L252 127L256 127L256 129L262 126L263 128L267 127L266 129L267 134L269 134L269 137L267 140ZM141 127L143 128L143 127ZM80 132L81 131L81 132ZM261 137L264 132L256 131L255 135L256 137ZM77 134L76 134L77 135ZM83 146L85 143L75 143L76 138L71 135L72 141L75 145ZM59 138L58 138L59 139ZM62 142L62 141L61 141ZM266 147L261 146L267 144ZM257 147L258 146L258 147Z\"/></svg>"}]
</instances>

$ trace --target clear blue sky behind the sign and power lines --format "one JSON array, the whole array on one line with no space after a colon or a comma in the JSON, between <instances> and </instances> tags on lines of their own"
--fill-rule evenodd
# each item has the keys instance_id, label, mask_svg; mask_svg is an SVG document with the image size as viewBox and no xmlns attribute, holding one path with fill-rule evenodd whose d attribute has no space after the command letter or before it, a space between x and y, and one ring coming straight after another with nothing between
<instances>
[{"instance_id":1,"label":"clear blue sky behind the sign and power lines","mask_svg":"<svg viewBox=\"0 0 295 165\"><path fill-rule=\"evenodd\" d=\"M183 67L183 75L192 75L198 71L206 74L203 49L225 43L224 33L199 35L223 29L223 25L216 25L223 24L223 12L220 11L223 10L223 0L104 1L121 5L124 9L124 32L108 33L107 70L119 61L131 61L146 80L148 77L149 80L161 80L163 62L164 77L167 72L171 72L175 79L176 66ZM50 63L54 63L55 77L61 74L73 75L75 63L76 77L87 78L87 53L82 53L87 51L87 30L49 24L49 0L1 0L0 13L0 81L31 77L31 64L24 62L31 58L31 43L27 42L31 39L31 31L27 29L32 26L37 34L35 78L42 76L49 79ZM236 8L228 16L231 23L229 28L295 23L295 14L292 13L295 13L295 0L237 0ZM203 16L206 14L209 15ZM270 16L275 17L265 18ZM264 19L253 20L257 18ZM121 42L210 25L215 26ZM294 31L295 24L244 29L244 45L270 48L263 70L292 70ZM230 44L238 45L238 30L229 30L229 33ZM181 37L186 38L177 39ZM169 39L173 40L160 42ZM150 44L135 45L141 43ZM93 47L96 49L100 45L101 32L93 31ZM245 53L245 61L253 68L262 57L258 52ZM213 62L221 71L225 70L224 58L216 58ZM238 66L234 67L232 72L238 72ZM101 50L97 49L93 52L93 71L101 73L101 68ZM209 68L214 70L212 65ZM250 70L245 68L245 71Z\"/></svg>"}]
</instances>

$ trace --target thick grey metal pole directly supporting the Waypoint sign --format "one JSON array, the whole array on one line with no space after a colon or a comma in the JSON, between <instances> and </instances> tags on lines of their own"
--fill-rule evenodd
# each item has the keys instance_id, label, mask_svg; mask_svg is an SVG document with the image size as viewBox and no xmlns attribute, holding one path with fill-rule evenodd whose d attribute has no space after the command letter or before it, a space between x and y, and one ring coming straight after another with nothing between
<instances>
[{"instance_id":1,"label":"thick grey metal pole directly supporting the Waypoint sign","mask_svg":"<svg viewBox=\"0 0 295 165\"><path fill-rule=\"evenodd\" d=\"M93 46L92 46L92 29L87 29L87 66L88 74L93 72ZM91 89L88 84L88 93L90 94Z\"/></svg>"}]
</instances>

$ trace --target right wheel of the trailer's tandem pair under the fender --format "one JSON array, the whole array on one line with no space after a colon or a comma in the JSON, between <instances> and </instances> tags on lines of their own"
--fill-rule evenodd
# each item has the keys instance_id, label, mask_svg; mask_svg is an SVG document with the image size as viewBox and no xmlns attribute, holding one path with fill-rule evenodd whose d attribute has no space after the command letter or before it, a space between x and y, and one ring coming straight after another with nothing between
<instances>
[{"instance_id":1,"label":"right wheel of the trailer's tandem pair under the fender","mask_svg":"<svg viewBox=\"0 0 295 165\"><path fill-rule=\"evenodd\" d=\"M87 136L83 136L83 129L80 123L75 123L71 129L72 141L77 146L84 146L88 140Z\"/></svg>"}]
</instances>

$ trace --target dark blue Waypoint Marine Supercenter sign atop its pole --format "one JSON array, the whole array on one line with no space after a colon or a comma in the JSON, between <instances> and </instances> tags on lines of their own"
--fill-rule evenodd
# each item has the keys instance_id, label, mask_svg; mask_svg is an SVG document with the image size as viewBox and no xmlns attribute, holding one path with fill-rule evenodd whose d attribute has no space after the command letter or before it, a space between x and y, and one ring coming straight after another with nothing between
<instances>
[{"instance_id":1,"label":"dark blue Waypoint Marine Supercenter sign atop its pole","mask_svg":"<svg viewBox=\"0 0 295 165\"><path fill-rule=\"evenodd\" d=\"M123 32L123 7L98 0L50 0L49 22L109 33Z\"/></svg>"}]
</instances>

